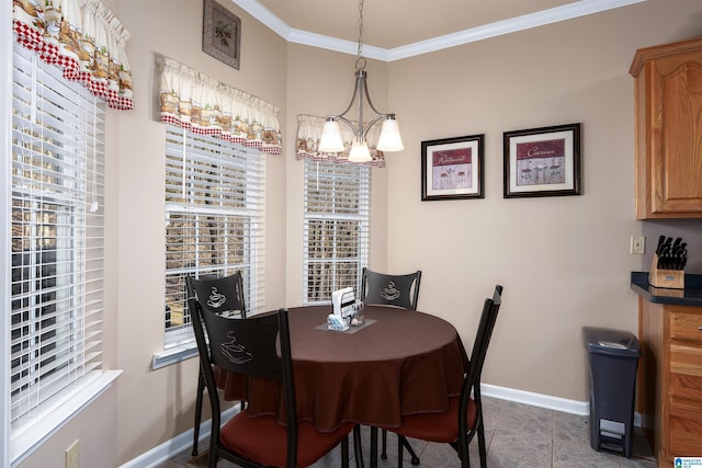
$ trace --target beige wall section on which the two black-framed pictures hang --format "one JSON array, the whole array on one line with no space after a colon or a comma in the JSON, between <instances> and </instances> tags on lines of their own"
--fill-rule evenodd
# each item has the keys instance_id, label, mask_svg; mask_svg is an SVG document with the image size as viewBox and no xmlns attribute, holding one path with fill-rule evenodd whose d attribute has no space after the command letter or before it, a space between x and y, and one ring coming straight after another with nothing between
<instances>
[{"instance_id":1,"label":"beige wall section on which the two black-framed pictures hang","mask_svg":"<svg viewBox=\"0 0 702 468\"><path fill-rule=\"evenodd\" d=\"M468 342L482 299L505 286L485 383L586 401L581 327L636 332L629 66L639 47L702 34L701 12L649 0L390 64L406 150L388 158L387 264L421 267L419 309ZM576 122L582 195L503 198L502 133ZM421 202L421 140L474 134L486 136L485 199Z\"/></svg>"}]
</instances>

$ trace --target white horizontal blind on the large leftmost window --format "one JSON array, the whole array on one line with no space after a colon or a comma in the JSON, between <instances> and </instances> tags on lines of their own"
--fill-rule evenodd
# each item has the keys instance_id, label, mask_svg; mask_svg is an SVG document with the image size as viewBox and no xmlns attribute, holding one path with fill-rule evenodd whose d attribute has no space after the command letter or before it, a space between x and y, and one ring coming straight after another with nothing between
<instances>
[{"instance_id":1,"label":"white horizontal blind on the large leftmost window","mask_svg":"<svg viewBox=\"0 0 702 468\"><path fill-rule=\"evenodd\" d=\"M12 55L11 432L102 372L104 103Z\"/></svg>"}]
</instances>

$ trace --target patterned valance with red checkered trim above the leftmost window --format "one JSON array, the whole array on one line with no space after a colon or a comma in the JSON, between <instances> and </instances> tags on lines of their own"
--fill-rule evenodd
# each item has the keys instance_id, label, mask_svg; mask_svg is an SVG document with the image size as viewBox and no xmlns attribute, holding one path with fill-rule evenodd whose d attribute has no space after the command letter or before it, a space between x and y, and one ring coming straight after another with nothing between
<instances>
[{"instance_id":1,"label":"patterned valance with red checkered trim above the leftmost window","mask_svg":"<svg viewBox=\"0 0 702 468\"><path fill-rule=\"evenodd\" d=\"M134 107L129 33L100 0L13 0L16 41L118 110Z\"/></svg>"}]
</instances>

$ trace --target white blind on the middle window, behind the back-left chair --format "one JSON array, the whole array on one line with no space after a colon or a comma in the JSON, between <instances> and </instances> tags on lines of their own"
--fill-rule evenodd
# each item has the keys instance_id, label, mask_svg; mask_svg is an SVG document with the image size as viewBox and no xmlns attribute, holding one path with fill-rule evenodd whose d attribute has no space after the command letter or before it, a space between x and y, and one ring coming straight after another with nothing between
<instances>
[{"instance_id":1,"label":"white blind on the middle window, behind the back-left chair","mask_svg":"<svg viewBox=\"0 0 702 468\"><path fill-rule=\"evenodd\" d=\"M166 130L166 347L193 341L185 277L244 274L249 313L263 304L265 158L177 126Z\"/></svg>"}]
</instances>

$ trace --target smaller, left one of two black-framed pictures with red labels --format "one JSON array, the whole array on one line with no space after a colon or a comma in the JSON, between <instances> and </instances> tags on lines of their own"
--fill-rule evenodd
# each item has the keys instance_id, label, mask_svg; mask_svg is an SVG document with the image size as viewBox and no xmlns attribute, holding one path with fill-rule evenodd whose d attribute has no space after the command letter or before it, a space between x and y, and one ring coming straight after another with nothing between
<instances>
[{"instance_id":1,"label":"smaller, left one of two black-framed pictures with red labels","mask_svg":"<svg viewBox=\"0 0 702 468\"><path fill-rule=\"evenodd\" d=\"M485 135L421 142L421 201L484 198Z\"/></svg>"}]
</instances>

